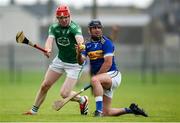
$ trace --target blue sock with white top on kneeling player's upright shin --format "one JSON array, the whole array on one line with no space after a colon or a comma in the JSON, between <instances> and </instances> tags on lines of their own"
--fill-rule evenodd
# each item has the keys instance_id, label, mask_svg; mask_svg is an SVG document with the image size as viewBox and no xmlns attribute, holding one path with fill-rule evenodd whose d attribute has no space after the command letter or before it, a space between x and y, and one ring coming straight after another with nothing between
<instances>
[{"instance_id":1,"label":"blue sock with white top on kneeling player's upright shin","mask_svg":"<svg viewBox=\"0 0 180 123\"><path fill-rule=\"evenodd\" d=\"M103 97L97 96L95 97L96 101L96 111L103 112Z\"/></svg>"}]
</instances>

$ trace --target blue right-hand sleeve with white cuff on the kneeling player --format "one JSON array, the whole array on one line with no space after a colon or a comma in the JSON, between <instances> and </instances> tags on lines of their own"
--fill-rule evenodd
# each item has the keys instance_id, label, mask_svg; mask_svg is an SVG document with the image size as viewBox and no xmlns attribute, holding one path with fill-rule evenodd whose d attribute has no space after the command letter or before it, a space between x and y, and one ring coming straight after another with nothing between
<instances>
[{"instance_id":1,"label":"blue right-hand sleeve with white cuff on the kneeling player","mask_svg":"<svg viewBox=\"0 0 180 123\"><path fill-rule=\"evenodd\" d=\"M103 44L104 57L114 55L114 45L110 40L106 40Z\"/></svg>"}]
</instances>

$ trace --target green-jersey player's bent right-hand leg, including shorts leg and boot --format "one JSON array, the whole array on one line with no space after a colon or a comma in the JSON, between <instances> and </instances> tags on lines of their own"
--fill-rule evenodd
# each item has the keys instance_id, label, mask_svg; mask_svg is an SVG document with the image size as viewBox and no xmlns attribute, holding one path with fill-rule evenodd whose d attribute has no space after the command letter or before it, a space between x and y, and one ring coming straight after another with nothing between
<instances>
[{"instance_id":1,"label":"green-jersey player's bent right-hand leg, including shorts leg and boot","mask_svg":"<svg viewBox=\"0 0 180 123\"><path fill-rule=\"evenodd\" d=\"M65 64L65 71L67 73L67 77L61 87L60 95L63 98L66 98L70 95L75 94L73 91L74 86L77 83L78 78L80 77L80 71L82 66L78 64ZM88 113L88 97L87 96L76 96L72 99L72 101L79 102L80 111L82 115L86 115Z\"/></svg>"}]
</instances>

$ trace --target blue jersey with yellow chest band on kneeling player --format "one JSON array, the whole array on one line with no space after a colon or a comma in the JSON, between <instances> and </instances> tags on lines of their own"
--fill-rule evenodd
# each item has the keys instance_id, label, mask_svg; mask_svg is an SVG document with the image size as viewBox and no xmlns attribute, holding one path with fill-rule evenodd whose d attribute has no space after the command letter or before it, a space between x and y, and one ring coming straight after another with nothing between
<instances>
[{"instance_id":1,"label":"blue jersey with yellow chest band on kneeling player","mask_svg":"<svg viewBox=\"0 0 180 123\"><path fill-rule=\"evenodd\" d=\"M117 70L114 61L114 45L109 38L103 36L101 40L90 40L85 45L86 50L82 52L82 55L89 57L92 74L96 74L99 71L101 65L104 63L105 56L113 56L112 66L108 72Z\"/></svg>"}]
</instances>

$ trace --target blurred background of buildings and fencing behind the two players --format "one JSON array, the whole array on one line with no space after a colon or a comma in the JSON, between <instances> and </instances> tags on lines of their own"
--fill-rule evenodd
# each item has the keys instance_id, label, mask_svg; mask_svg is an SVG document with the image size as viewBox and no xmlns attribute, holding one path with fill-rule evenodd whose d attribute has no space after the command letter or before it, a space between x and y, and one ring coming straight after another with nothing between
<instances>
[{"instance_id":1,"label":"blurred background of buildings and fencing behind the two players","mask_svg":"<svg viewBox=\"0 0 180 123\"><path fill-rule=\"evenodd\" d=\"M104 34L116 46L116 61L123 72L135 72L142 82L157 82L158 73L180 72L180 0L1 0L0 81L21 82L27 71L45 71L52 58L24 44L16 33L44 46L48 27L61 3L70 6L72 20L85 38L92 18L101 20ZM54 47L54 54L57 52Z\"/></svg>"}]
</instances>

